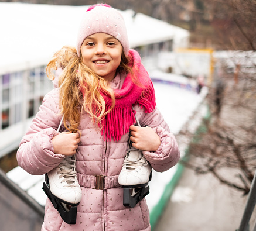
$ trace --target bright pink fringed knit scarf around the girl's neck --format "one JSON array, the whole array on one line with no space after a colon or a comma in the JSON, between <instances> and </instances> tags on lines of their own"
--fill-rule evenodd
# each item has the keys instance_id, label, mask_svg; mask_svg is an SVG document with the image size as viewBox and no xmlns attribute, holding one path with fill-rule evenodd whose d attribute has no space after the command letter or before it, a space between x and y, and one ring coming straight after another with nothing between
<instances>
[{"instance_id":1,"label":"bright pink fringed knit scarf around the girl's neck","mask_svg":"<svg viewBox=\"0 0 256 231\"><path fill-rule=\"evenodd\" d=\"M120 140L121 136L129 132L129 127L135 123L135 112L132 106L138 104L144 108L146 113L155 109L155 90L148 72L141 63L141 57L135 51L130 49L128 56L131 58L129 67L132 67L134 75L143 87L132 82L131 73L127 74L121 89L114 89L115 107L103 119L101 135L104 140ZM142 94L143 93L143 94ZM106 110L111 106L111 98L101 94L105 100Z\"/></svg>"}]
</instances>

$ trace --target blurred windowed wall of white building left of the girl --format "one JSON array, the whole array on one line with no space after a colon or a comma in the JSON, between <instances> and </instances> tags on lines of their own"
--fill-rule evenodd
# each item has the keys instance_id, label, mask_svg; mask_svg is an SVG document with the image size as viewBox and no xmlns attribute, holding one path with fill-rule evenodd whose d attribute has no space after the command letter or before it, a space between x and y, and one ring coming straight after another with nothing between
<instances>
[{"instance_id":1,"label":"blurred windowed wall of white building left of the girl","mask_svg":"<svg viewBox=\"0 0 256 231\"><path fill-rule=\"evenodd\" d=\"M23 78L27 74L28 78ZM43 96L52 88L45 66L0 75L0 130L21 123L25 115L35 116Z\"/></svg>"}]
</instances>

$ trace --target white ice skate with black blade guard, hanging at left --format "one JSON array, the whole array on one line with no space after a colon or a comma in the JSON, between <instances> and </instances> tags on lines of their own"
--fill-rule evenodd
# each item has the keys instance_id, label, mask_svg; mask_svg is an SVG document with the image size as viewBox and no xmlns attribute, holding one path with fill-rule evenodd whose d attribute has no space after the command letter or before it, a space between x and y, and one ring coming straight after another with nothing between
<instances>
[{"instance_id":1,"label":"white ice skate with black blade guard, hanging at left","mask_svg":"<svg viewBox=\"0 0 256 231\"><path fill-rule=\"evenodd\" d=\"M67 156L63 161L45 174L43 191L60 213L64 222L76 223L77 205L81 201L81 188L77 181L76 160Z\"/></svg>"}]
</instances>

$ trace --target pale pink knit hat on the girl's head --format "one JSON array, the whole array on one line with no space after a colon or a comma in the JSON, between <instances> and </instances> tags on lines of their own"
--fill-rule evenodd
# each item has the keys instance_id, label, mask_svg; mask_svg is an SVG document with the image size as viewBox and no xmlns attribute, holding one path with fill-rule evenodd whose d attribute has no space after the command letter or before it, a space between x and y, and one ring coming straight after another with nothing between
<instances>
[{"instance_id":1,"label":"pale pink knit hat on the girl's head","mask_svg":"<svg viewBox=\"0 0 256 231\"><path fill-rule=\"evenodd\" d=\"M115 37L122 44L127 56L129 51L127 30L124 18L117 9L107 4L96 4L88 8L78 29L76 49L79 57L84 39L95 33L106 33Z\"/></svg>"}]
</instances>

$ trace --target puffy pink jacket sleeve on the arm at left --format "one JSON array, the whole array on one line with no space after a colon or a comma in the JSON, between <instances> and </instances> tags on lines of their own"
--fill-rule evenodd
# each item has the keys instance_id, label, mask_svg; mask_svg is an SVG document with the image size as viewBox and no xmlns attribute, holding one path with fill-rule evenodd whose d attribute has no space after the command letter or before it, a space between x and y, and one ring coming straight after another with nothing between
<instances>
[{"instance_id":1,"label":"puffy pink jacket sleeve on the arm at left","mask_svg":"<svg viewBox=\"0 0 256 231\"><path fill-rule=\"evenodd\" d=\"M17 151L18 165L32 175L48 173L66 157L55 154L52 144L53 137L59 134L57 127L61 119L56 105L59 99L57 94L53 94L56 90L43 99L39 112L23 136Z\"/></svg>"}]
</instances>

